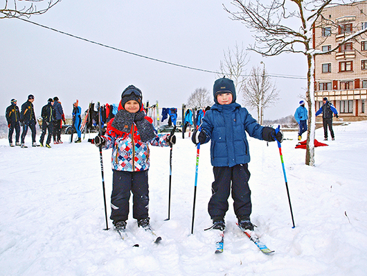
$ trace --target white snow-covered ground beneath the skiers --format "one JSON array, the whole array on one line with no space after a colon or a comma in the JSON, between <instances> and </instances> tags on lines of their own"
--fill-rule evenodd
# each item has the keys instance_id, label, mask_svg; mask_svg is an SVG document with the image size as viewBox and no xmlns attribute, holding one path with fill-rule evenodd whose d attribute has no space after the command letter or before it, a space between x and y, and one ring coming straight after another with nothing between
<instances>
[{"instance_id":1,"label":"white snow-covered ground beneath the skiers","mask_svg":"<svg viewBox=\"0 0 367 276\"><path fill-rule=\"evenodd\" d=\"M165 221L170 148L150 147L150 217L163 238L156 245L131 214L127 241L103 230L100 157L88 137L69 144L64 136L64 144L51 149L10 148L0 139L0 275L366 275L367 121L334 126L334 132L335 141L315 149L314 167L305 165L305 150L294 148L296 132L285 132L295 228L278 146L249 139L251 218L260 239L275 250L272 255L262 254L240 232L232 207L224 252L215 255L214 230L204 231L211 226L208 144L199 157L194 234L195 145L177 135L170 221ZM322 129L316 139L323 140ZM30 146L30 137L26 142ZM103 152L108 214L110 154Z\"/></svg>"}]
</instances>

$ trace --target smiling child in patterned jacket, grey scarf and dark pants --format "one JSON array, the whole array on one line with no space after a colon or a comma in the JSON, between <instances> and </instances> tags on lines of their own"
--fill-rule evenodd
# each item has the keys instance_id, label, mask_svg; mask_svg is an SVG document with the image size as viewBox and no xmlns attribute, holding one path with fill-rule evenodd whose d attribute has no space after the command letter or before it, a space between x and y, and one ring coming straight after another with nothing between
<instances>
[{"instance_id":1,"label":"smiling child in patterned jacket, grey scarf and dark pants","mask_svg":"<svg viewBox=\"0 0 367 276\"><path fill-rule=\"evenodd\" d=\"M145 116L141 90L129 85L121 95L116 116L107 124L105 135L98 135L94 139L96 146L112 148L113 187L110 218L114 221L116 230L125 230L130 191L133 193L133 218L138 221L138 227L150 227L149 144L171 146L175 141L174 135L157 134L152 119Z\"/></svg>"}]
</instances>

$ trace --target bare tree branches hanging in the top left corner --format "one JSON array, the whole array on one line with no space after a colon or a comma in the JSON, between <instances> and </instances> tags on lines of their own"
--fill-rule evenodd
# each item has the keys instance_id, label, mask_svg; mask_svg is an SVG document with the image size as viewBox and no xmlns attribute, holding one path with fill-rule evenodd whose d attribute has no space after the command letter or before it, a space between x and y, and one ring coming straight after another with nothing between
<instances>
[{"instance_id":1,"label":"bare tree branches hanging in the top left corner","mask_svg":"<svg viewBox=\"0 0 367 276\"><path fill-rule=\"evenodd\" d=\"M42 15L61 0L6 0L0 9L0 19Z\"/></svg>"}]
</instances>

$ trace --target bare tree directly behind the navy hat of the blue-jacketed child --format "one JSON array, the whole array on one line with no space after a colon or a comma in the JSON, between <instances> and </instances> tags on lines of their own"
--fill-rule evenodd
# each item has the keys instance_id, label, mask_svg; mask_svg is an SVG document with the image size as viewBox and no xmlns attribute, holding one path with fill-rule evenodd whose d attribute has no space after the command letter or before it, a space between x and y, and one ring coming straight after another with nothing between
<instances>
[{"instance_id":1,"label":"bare tree directly behind the navy hat of the blue-jacketed child","mask_svg":"<svg viewBox=\"0 0 367 276\"><path fill-rule=\"evenodd\" d=\"M228 51L224 51L224 60L220 61L220 73L217 74L218 78L223 78L226 76L233 80L235 84L235 90L238 95L241 94L244 80L246 75L246 65L249 63L249 59L247 58L247 51L244 49L243 43L238 46L237 42L235 42L235 49Z\"/></svg>"}]
</instances>

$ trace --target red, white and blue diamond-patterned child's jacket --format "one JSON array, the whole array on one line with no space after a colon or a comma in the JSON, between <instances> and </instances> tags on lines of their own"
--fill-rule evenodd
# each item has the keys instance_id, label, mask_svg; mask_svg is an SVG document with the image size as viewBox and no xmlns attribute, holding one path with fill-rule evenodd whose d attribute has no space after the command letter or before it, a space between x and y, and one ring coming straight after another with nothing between
<instances>
[{"instance_id":1,"label":"red, white and blue diamond-patterned child's jacket","mask_svg":"<svg viewBox=\"0 0 367 276\"><path fill-rule=\"evenodd\" d=\"M119 107L120 109L120 107ZM145 117L150 123L152 119ZM152 146L169 146L165 139L169 134L156 134L156 137L144 143L140 139L138 129L133 124L129 133L113 128L111 119L107 124L104 137L107 142L104 149L112 148L112 169L116 171L146 171L150 166L149 144ZM156 130L155 130L156 132ZM157 133L157 132L156 132Z\"/></svg>"}]
</instances>

